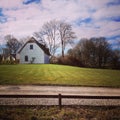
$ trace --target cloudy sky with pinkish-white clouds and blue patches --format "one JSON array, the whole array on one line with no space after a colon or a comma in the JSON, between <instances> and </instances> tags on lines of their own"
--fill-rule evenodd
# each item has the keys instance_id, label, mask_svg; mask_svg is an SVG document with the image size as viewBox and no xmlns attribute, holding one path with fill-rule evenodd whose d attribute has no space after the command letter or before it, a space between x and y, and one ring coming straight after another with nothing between
<instances>
[{"instance_id":1,"label":"cloudy sky with pinkish-white clouds and blue patches","mask_svg":"<svg viewBox=\"0 0 120 120\"><path fill-rule=\"evenodd\" d=\"M4 36L32 36L50 20L72 25L78 39L120 40L120 0L0 0L0 44Z\"/></svg>"}]
</instances>

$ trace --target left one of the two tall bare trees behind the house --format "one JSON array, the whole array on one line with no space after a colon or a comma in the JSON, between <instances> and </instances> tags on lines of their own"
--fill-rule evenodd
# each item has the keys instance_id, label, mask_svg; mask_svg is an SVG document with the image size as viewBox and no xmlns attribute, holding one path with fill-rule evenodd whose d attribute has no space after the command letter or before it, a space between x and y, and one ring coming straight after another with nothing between
<instances>
[{"instance_id":1,"label":"left one of the two tall bare trees behind the house","mask_svg":"<svg viewBox=\"0 0 120 120\"><path fill-rule=\"evenodd\" d=\"M58 22L56 20L45 23L39 32L34 33L39 42L46 45L52 56L59 47Z\"/></svg>"}]
</instances>

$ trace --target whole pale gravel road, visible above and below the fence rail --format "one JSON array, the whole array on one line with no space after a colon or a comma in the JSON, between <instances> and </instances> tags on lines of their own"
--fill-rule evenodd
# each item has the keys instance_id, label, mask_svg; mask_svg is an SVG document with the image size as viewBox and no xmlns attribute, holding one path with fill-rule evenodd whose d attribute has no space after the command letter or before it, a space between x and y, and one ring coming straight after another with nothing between
<instances>
[{"instance_id":1,"label":"whole pale gravel road, visible above and below the fence rail","mask_svg":"<svg viewBox=\"0 0 120 120\"><path fill-rule=\"evenodd\" d=\"M120 96L120 88L105 87L66 87L66 86L38 86L38 85L0 85L0 94L37 94L37 95L90 95L90 96ZM63 105L115 105L117 100L85 100L63 99ZM58 105L58 99L53 98L0 98L0 105Z\"/></svg>"}]
</instances>

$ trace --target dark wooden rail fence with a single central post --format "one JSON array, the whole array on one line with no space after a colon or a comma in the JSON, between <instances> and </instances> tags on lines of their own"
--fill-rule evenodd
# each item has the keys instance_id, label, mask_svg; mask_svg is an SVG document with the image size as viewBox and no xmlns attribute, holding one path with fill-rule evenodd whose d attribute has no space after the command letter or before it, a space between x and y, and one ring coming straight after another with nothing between
<instances>
[{"instance_id":1,"label":"dark wooden rail fence with a single central post","mask_svg":"<svg viewBox=\"0 0 120 120\"><path fill-rule=\"evenodd\" d=\"M83 96L83 95L0 95L0 98L58 98L59 108L62 108L62 99L120 99L120 96Z\"/></svg>"}]
</instances>

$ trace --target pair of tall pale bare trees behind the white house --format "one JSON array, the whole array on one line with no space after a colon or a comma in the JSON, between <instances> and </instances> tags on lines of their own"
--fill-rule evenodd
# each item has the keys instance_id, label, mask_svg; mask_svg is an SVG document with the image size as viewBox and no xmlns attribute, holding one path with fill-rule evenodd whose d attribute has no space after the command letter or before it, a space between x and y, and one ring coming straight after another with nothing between
<instances>
[{"instance_id":1,"label":"pair of tall pale bare trees behind the white house","mask_svg":"<svg viewBox=\"0 0 120 120\"><path fill-rule=\"evenodd\" d=\"M39 32L34 33L35 37L43 44L47 44L51 55L55 55L56 50L61 47L62 56L68 43L76 38L71 25L62 21L52 20L45 23Z\"/></svg>"}]
</instances>

